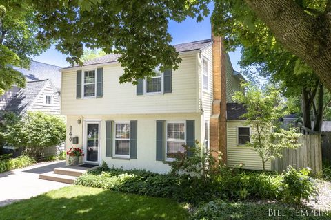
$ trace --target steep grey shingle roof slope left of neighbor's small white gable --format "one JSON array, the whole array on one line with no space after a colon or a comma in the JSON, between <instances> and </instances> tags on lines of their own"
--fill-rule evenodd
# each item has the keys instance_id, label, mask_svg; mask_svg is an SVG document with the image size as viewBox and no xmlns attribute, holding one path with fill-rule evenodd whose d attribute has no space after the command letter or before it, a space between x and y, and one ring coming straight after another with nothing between
<instances>
[{"instance_id":1,"label":"steep grey shingle roof slope left of neighbor's small white gable","mask_svg":"<svg viewBox=\"0 0 331 220\"><path fill-rule=\"evenodd\" d=\"M23 115L28 111L33 100L38 96L43 86L46 84L46 80L34 80L26 83L26 87L19 90L17 95L10 100L5 107L5 111L13 111L19 115Z\"/></svg>"}]
</instances>

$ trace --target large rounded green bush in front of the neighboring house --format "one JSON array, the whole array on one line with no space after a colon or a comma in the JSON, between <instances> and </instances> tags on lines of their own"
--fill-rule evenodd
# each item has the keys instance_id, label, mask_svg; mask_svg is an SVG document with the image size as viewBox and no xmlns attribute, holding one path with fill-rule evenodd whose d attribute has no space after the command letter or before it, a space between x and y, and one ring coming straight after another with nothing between
<instances>
[{"instance_id":1,"label":"large rounded green bush in front of the neighboring house","mask_svg":"<svg viewBox=\"0 0 331 220\"><path fill-rule=\"evenodd\" d=\"M59 116L34 111L24 118L14 113L6 113L3 118L3 140L10 146L23 147L30 157L40 157L43 148L57 146L66 139L66 124Z\"/></svg>"}]
</instances>

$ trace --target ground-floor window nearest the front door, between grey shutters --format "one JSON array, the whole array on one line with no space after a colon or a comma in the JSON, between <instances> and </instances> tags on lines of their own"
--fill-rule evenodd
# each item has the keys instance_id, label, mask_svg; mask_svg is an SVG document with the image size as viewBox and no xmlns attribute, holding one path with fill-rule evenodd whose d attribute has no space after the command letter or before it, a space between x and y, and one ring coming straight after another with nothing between
<instances>
[{"instance_id":1,"label":"ground-floor window nearest the front door, between grey shutters","mask_svg":"<svg viewBox=\"0 0 331 220\"><path fill-rule=\"evenodd\" d=\"M130 156L130 123L115 123L115 155Z\"/></svg>"}]
</instances>

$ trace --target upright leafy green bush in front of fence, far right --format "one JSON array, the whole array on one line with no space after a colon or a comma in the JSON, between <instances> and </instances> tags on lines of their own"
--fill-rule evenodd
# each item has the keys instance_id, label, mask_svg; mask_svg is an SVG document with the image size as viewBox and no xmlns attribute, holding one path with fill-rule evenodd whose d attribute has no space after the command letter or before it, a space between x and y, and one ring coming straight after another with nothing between
<instances>
[{"instance_id":1,"label":"upright leafy green bush in front of fence, far right","mask_svg":"<svg viewBox=\"0 0 331 220\"><path fill-rule=\"evenodd\" d=\"M309 199L310 196L317 195L317 187L314 179L309 177L309 168L300 171L288 166L283 175L283 199L294 203L301 203L301 199Z\"/></svg>"}]
</instances>

